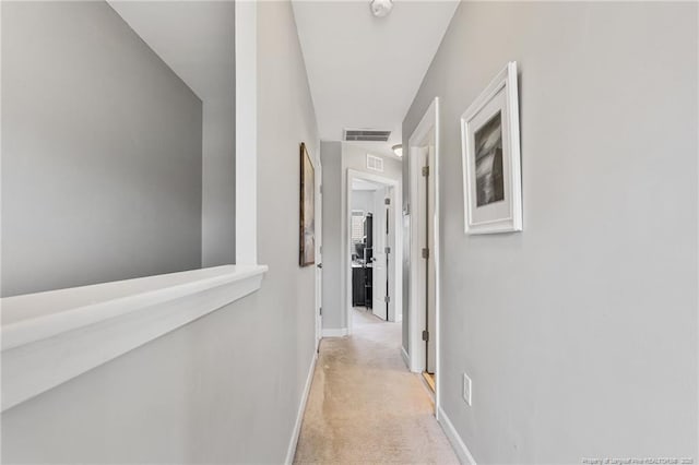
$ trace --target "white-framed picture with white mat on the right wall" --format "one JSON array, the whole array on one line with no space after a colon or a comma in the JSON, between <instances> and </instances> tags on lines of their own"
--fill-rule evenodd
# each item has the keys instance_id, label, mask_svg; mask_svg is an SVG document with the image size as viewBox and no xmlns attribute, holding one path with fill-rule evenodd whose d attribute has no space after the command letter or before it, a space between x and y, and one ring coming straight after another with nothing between
<instances>
[{"instance_id":1,"label":"white-framed picture with white mat on the right wall","mask_svg":"<svg viewBox=\"0 0 699 465\"><path fill-rule=\"evenodd\" d=\"M522 230L517 62L498 73L461 116L464 229Z\"/></svg>"}]
</instances>

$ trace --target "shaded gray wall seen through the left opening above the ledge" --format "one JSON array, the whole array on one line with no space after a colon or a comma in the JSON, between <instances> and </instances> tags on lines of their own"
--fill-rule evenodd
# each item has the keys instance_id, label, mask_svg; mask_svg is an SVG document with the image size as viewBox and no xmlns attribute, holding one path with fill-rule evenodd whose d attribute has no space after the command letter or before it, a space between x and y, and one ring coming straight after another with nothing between
<instances>
[{"instance_id":1,"label":"shaded gray wall seen through the left opening above the ledge","mask_svg":"<svg viewBox=\"0 0 699 465\"><path fill-rule=\"evenodd\" d=\"M201 266L201 102L105 2L2 4L2 295Z\"/></svg>"}]
</instances>

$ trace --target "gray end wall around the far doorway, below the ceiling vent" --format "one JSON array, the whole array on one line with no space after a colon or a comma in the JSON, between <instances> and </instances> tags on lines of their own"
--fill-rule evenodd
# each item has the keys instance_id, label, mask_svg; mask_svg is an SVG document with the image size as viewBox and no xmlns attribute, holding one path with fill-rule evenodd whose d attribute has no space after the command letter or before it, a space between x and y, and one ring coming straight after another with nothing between
<instances>
[{"instance_id":1,"label":"gray end wall around the far doorway, below the ceiling vent","mask_svg":"<svg viewBox=\"0 0 699 465\"><path fill-rule=\"evenodd\" d=\"M346 142L321 142L323 164L323 329L347 327L347 273L343 266L347 225L347 170L400 180L403 162L383 158L383 172L367 169L367 150ZM327 216L325 216L327 215Z\"/></svg>"}]
</instances>

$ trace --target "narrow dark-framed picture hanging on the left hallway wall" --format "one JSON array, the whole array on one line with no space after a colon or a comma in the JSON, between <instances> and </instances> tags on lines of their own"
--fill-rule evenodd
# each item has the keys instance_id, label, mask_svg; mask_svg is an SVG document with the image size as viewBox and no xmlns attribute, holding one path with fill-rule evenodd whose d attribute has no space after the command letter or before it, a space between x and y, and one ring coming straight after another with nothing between
<instances>
[{"instance_id":1,"label":"narrow dark-framed picture hanging on the left hallway wall","mask_svg":"<svg viewBox=\"0 0 699 465\"><path fill-rule=\"evenodd\" d=\"M300 266L316 263L316 169L306 144L300 143L299 259Z\"/></svg>"}]
</instances>

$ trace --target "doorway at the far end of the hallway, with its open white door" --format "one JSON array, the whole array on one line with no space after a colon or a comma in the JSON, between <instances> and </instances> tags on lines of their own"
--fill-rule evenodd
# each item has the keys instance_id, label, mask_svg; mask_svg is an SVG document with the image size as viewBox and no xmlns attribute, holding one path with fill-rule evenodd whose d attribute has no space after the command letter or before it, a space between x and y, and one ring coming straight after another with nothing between
<instances>
[{"instance_id":1,"label":"doorway at the far end of the hallway, with its open white door","mask_svg":"<svg viewBox=\"0 0 699 465\"><path fill-rule=\"evenodd\" d=\"M346 195L346 324L352 334L357 311L386 322L402 320L400 180L350 169Z\"/></svg>"}]
</instances>

